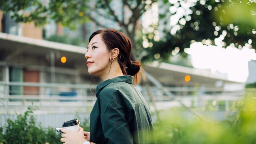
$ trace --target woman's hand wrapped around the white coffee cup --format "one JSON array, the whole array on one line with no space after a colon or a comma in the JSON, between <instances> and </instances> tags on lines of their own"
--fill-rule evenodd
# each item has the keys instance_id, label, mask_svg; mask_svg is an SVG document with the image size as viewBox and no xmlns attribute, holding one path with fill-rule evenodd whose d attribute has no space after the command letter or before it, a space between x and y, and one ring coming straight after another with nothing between
<instances>
[{"instance_id":1,"label":"woman's hand wrapped around the white coffee cup","mask_svg":"<svg viewBox=\"0 0 256 144\"><path fill-rule=\"evenodd\" d=\"M84 143L84 141L87 140L84 137L84 129L81 127L79 127L79 132L74 132L65 128L62 128L60 131L63 132L61 134L62 138L60 139L60 141L64 142L65 144L82 144Z\"/></svg>"}]
</instances>

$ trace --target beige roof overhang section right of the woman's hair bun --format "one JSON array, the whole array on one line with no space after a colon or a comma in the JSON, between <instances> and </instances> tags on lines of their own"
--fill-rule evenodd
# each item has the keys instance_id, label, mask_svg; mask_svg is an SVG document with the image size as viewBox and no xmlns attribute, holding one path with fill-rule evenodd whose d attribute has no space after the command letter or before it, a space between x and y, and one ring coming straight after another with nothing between
<instances>
[{"instance_id":1,"label":"beige roof overhang section right of the woman's hair bun","mask_svg":"<svg viewBox=\"0 0 256 144\"><path fill-rule=\"evenodd\" d=\"M188 68L168 63L150 63L143 68L165 85L195 86L205 84L205 86L215 87L216 82L222 83L222 85L225 83L244 84L243 82L228 80L225 76L213 75L208 69ZM184 79L186 75L191 77L189 82Z\"/></svg>"}]
</instances>

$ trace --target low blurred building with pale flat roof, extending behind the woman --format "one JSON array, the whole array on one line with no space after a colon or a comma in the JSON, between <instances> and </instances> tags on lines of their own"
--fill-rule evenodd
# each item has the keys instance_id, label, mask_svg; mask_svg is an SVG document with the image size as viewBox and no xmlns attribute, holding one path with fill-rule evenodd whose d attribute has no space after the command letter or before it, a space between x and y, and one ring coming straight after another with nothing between
<instances>
[{"instance_id":1,"label":"low blurred building with pale flat roof, extending behind the woman","mask_svg":"<svg viewBox=\"0 0 256 144\"><path fill-rule=\"evenodd\" d=\"M85 51L84 47L0 33L0 89L9 107L2 105L3 111L25 111L32 102L43 113L71 112L79 108L90 111L96 100L91 91L95 92L101 80L98 78L92 84ZM67 59L64 63L61 62L63 56ZM242 84L214 76L207 70L166 63L150 63L143 68L148 81L138 88L148 101L151 99L145 84L151 86L153 95L160 101L173 100L181 93L190 95L188 91L195 88L217 88L217 92L221 92L225 84ZM184 80L187 75L191 77L188 82ZM169 92L162 91L163 86Z\"/></svg>"}]
</instances>

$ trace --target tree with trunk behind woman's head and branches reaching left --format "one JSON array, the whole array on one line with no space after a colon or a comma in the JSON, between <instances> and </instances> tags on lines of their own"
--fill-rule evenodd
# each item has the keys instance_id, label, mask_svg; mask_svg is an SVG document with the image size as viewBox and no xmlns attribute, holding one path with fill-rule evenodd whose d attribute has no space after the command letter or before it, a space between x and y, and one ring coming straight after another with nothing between
<instances>
[{"instance_id":1,"label":"tree with trunk behind woman's head and branches reaching left","mask_svg":"<svg viewBox=\"0 0 256 144\"><path fill-rule=\"evenodd\" d=\"M137 57L135 32L138 20L156 0L122 0L122 13L116 13L111 7L112 0L96 0L95 5L90 5L90 0L50 0L49 4L44 4L40 0L3 0L0 9L12 12L12 18L16 22L31 22L36 25L44 25L48 20L53 19L63 26L75 28L77 23L84 23L92 20L98 26L106 28L97 17L105 17L115 21L130 39L133 44L132 59ZM29 13L27 8L32 8ZM130 16L125 15L124 8L129 11ZM103 9L104 11L99 11Z\"/></svg>"}]
</instances>

